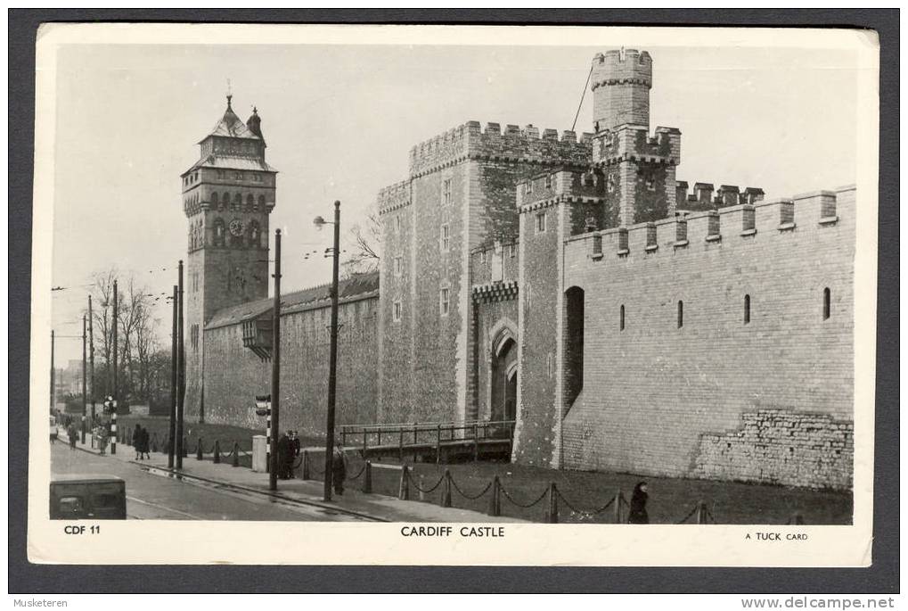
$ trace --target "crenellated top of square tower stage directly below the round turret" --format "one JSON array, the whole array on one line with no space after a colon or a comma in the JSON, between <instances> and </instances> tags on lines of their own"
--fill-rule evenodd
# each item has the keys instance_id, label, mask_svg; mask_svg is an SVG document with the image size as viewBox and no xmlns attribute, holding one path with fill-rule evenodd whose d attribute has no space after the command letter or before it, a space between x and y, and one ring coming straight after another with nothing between
<instances>
[{"instance_id":1,"label":"crenellated top of square tower stage directly below the round turret","mask_svg":"<svg viewBox=\"0 0 908 611\"><path fill-rule=\"evenodd\" d=\"M678 165L681 131L660 126L651 136L645 125L626 124L597 133L593 139L593 163L612 165L622 161Z\"/></svg>"}]
</instances>

